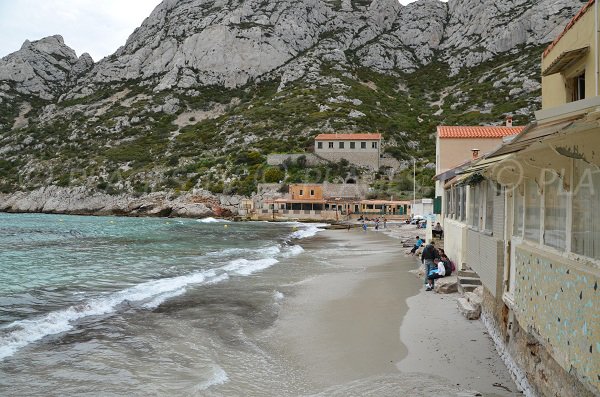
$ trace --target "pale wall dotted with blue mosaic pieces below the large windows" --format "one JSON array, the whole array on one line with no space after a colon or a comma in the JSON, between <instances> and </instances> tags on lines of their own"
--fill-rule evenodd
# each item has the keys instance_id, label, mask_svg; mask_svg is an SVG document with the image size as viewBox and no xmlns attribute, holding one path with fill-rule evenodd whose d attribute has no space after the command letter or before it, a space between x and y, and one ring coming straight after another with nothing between
<instances>
[{"instance_id":1,"label":"pale wall dotted with blue mosaic pieces below the large windows","mask_svg":"<svg viewBox=\"0 0 600 397\"><path fill-rule=\"evenodd\" d=\"M516 249L515 315L568 373L600 393L600 269Z\"/></svg>"}]
</instances>

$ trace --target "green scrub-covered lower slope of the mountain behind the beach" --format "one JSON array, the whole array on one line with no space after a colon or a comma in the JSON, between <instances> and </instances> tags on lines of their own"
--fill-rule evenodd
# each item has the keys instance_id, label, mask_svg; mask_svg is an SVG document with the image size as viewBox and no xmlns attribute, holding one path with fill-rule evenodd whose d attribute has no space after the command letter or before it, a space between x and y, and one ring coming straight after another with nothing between
<instances>
[{"instance_id":1,"label":"green scrub-covered lower slope of the mountain behind the beach","mask_svg":"<svg viewBox=\"0 0 600 397\"><path fill-rule=\"evenodd\" d=\"M409 165L416 159L418 192L428 196L436 127L499 124L508 114L528 122L540 93L523 90L523 78L538 79L540 53L541 47L520 48L456 76L439 63L395 75L324 64L320 81L298 80L283 89L270 80L234 90L153 93L127 81L59 102L55 117L43 121L48 103L14 93L16 101L0 102L0 191L55 184L108 193L202 187L249 195L263 181L360 175L347 162L266 164L270 153L310 152L314 136L337 131L382 133L387 155ZM12 130L23 102L33 106L29 125ZM169 103L176 106L167 113ZM371 177L373 196L412 197L411 167Z\"/></svg>"}]
</instances>

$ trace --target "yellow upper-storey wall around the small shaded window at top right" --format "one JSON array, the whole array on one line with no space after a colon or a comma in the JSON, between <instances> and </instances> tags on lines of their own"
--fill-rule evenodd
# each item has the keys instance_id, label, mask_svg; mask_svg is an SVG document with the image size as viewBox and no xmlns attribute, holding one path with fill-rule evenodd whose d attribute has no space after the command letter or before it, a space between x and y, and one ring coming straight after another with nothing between
<instances>
[{"instance_id":1,"label":"yellow upper-storey wall around the small shaded window at top right","mask_svg":"<svg viewBox=\"0 0 600 397\"><path fill-rule=\"evenodd\" d=\"M542 76L542 109L547 109L569 102L571 93L567 92L567 83L570 77L574 77L585 70L585 93L586 98L596 95L596 76L594 75L595 60L600 54L595 48L595 18L594 6L564 34L556 43L546 57L542 57L542 71L546 70L563 52L589 46L587 55L570 65L564 73L555 73Z\"/></svg>"}]
</instances>

